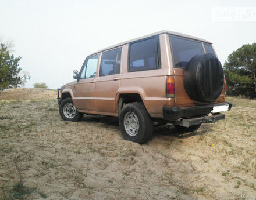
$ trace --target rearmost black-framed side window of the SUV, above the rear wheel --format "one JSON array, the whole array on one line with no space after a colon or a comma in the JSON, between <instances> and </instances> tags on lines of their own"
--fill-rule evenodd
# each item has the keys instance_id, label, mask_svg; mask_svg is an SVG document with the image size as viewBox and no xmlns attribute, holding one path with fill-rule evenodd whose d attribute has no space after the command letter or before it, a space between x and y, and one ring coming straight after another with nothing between
<instances>
[{"instance_id":1,"label":"rearmost black-framed side window of the SUV, above the rear wheel","mask_svg":"<svg viewBox=\"0 0 256 200\"><path fill-rule=\"evenodd\" d=\"M151 70L159 67L157 37L130 44L129 71Z\"/></svg>"}]
</instances>

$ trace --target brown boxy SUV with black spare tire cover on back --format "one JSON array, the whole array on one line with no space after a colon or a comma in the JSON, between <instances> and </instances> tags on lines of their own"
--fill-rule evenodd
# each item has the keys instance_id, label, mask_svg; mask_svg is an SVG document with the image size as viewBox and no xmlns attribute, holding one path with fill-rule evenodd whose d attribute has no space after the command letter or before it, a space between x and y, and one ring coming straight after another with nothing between
<instances>
[{"instance_id":1,"label":"brown boxy SUV with black spare tire cover on back","mask_svg":"<svg viewBox=\"0 0 256 200\"><path fill-rule=\"evenodd\" d=\"M144 143L153 123L179 132L225 119L226 81L211 42L160 31L88 56L76 81L58 89L59 113L67 121L83 114L119 118L124 139Z\"/></svg>"}]
</instances>

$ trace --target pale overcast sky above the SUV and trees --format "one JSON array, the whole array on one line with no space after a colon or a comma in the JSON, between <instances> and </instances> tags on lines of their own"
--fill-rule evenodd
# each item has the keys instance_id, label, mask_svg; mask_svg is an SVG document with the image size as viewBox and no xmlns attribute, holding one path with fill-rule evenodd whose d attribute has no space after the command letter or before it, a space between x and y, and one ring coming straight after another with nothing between
<instances>
[{"instance_id":1,"label":"pale overcast sky above the SUV and trees","mask_svg":"<svg viewBox=\"0 0 256 200\"><path fill-rule=\"evenodd\" d=\"M210 2L0 0L0 36L22 57L20 67L31 75L26 88L59 88L73 81L88 54L160 30L211 41L223 64L233 50L256 42L256 21L216 20L212 10L255 8L256 1Z\"/></svg>"}]
</instances>

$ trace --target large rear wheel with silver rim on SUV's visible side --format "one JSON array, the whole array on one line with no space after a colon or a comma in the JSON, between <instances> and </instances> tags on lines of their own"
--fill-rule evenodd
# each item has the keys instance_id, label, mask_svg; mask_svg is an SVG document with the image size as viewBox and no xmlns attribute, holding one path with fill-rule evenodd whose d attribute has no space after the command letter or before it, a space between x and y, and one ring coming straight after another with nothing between
<instances>
[{"instance_id":1,"label":"large rear wheel with silver rim on SUV's visible side","mask_svg":"<svg viewBox=\"0 0 256 200\"><path fill-rule=\"evenodd\" d=\"M123 139L136 143L150 140L154 132L154 124L142 103L126 104L119 115L119 126Z\"/></svg>"}]
</instances>

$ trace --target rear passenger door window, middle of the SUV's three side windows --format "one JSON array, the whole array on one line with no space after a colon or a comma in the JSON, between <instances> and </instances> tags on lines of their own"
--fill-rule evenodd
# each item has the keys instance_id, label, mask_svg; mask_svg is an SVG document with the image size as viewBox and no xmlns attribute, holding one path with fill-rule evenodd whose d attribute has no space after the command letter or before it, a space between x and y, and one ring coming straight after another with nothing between
<instances>
[{"instance_id":1,"label":"rear passenger door window, middle of the SUV's three side windows","mask_svg":"<svg viewBox=\"0 0 256 200\"><path fill-rule=\"evenodd\" d=\"M121 52L122 48L118 48L102 53L101 67L99 69L100 77L120 74Z\"/></svg>"}]
</instances>

